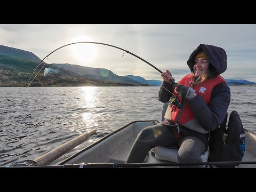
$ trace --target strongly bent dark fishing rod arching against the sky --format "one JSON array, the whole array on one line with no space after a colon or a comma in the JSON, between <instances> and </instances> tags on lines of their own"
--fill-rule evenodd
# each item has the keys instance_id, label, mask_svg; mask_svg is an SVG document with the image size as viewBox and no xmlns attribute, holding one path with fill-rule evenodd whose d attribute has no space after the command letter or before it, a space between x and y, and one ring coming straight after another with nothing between
<instances>
[{"instance_id":1,"label":"strongly bent dark fishing rod arching against the sky","mask_svg":"<svg viewBox=\"0 0 256 192\"><path fill-rule=\"evenodd\" d=\"M63 46L59 47L58 49L55 49L55 50L52 51L51 53L47 54L46 57L38 63L37 67L35 68L35 70L34 70L33 73L31 74L31 76L29 77L28 82L27 82L27 84L26 84L26 87L28 87L28 86L34 81L34 79L36 78L36 76L37 76L37 75L39 74L39 72L43 69L43 67L45 66L46 63L44 63L43 67L38 71L38 73L35 75L35 77L34 77L34 78L32 79L32 81L29 83L29 81L30 81L31 77L33 76L33 74L35 73L36 69L39 67L39 65L40 65L47 57L49 57L49 55L51 55L51 54L54 53L55 51L61 49L62 47L65 47L65 46L68 46L68 45L73 45L73 44L78 44L78 43L100 44L100 45L106 45L106 46L114 47L114 48L116 48L116 49L125 51L126 53L129 53L129 54L133 55L134 57L137 57L138 59L140 59L140 60L146 62L148 65L150 65L151 67L153 67L154 69L156 69L157 71L159 71L161 74L163 73L161 70L159 70L158 68L156 68L156 67L155 67L154 65L152 65L150 62L148 62L148 61L146 61L145 59L142 59L141 57L139 57L138 55L135 55L134 53L131 53L130 51L124 50L124 49L122 49L122 48L120 48L120 47L118 47L118 46L114 46L114 45L110 45L110 44L106 44L106 43L98 43L98 42L75 42L75 43L69 43L69 44L67 44L67 45L63 45ZM123 56L124 56L124 54L123 54ZM172 79L170 79L170 81L171 81L172 83L175 83Z\"/></svg>"}]
</instances>

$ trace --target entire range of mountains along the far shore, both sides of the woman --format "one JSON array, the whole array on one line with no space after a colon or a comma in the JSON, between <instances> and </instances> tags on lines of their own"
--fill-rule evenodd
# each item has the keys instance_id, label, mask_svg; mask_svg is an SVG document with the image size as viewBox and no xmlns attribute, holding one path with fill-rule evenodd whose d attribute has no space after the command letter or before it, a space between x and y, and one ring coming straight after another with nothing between
<instances>
[{"instance_id":1,"label":"entire range of mountains along the far shore, both sides of the woman","mask_svg":"<svg viewBox=\"0 0 256 192\"><path fill-rule=\"evenodd\" d=\"M25 86L39 62L41 59L32 52L0 45L0 86ZM160 86L162 83L134 75L118 76L108 69L69 63L42 62L35 71L37 73L34 86ZM256 85L244 79L226 81L228 85Z\"/></svg>"}]
</instances>

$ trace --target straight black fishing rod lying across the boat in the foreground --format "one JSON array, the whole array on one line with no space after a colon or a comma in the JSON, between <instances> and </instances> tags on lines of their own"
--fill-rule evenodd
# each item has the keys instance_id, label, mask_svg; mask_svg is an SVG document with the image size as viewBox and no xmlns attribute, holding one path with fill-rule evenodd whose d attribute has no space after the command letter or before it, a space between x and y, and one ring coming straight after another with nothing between
<instances>
[{"instance_id":1,"label":"straight black fishing rod lying across the boat in the foreground","mask_svg":"<svg viewBox=\"0 0 256 192\"><path fill-rule=\"evenodd\" d=\"M156 166L182 166L182 165L240 165L256 164L256 162L202 162L202 163L81 163L66 165L44 166L0 166L0 168L132 168L132 167L156 167Z\"/></svg>"}]
</instances>

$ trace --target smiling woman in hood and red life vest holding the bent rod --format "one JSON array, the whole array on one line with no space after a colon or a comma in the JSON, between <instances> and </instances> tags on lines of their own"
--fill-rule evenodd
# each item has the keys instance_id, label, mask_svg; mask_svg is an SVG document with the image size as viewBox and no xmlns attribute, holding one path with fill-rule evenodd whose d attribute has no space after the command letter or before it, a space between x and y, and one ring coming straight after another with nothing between
<instances>
[{"instance_id":1,"label":"smiling woman in hood and red life vest holding the bent rod","mask_svg":"<svg viewBox=\"0 0 256 192\"><path fill-rule=\"evenodd\" d=\"M221 47L200 44L187 65L191 74L178 84L169 70L161 74L158 100L169 101L165 121L145 127L138 134L126 163L142 163L156 146L178 147L180 163L202 162L210 131L223 122L230 103L230 88L220 76L227 69L227 54Z\"/></svg>"}]
</instances>

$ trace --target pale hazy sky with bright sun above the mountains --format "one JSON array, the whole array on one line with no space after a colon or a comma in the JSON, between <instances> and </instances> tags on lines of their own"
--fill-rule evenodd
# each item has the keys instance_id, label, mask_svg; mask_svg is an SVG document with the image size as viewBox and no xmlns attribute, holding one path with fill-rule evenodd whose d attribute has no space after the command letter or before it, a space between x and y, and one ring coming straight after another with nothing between
<instances>
[{"instance_id":1,"label":"pale hazy sky with bright sun above the mountains","mask_svg":"<svg viewBox=\"0 0 256 192\"><path fill-rule=\"evenodd\" d=\"M170 70L179 81L190 73L189 55L199 44L210 44L227 53L222 77L256 82L255 24L0 24L0 36L0 45L32 52L41 60L64 46L44 59L46 63L105 68L119 76L161 81L157 69ZM71 44L76 42L111 46Z\"/></svg>"}]
</instances>

